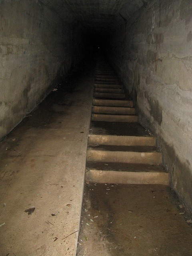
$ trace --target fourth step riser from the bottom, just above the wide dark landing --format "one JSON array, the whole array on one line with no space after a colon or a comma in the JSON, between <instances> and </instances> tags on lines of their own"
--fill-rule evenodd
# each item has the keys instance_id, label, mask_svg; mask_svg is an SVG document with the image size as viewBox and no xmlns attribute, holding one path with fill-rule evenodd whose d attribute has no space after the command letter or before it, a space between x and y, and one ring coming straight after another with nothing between
<instances>
[{"instance_id":1,"label":"fourth step riser from the bottom, just above the wide dark landing","mask_svg":"<svg viewBox=\"0 0 192 256\"><path fill-rule=\"evenodd\" d=\"M137 122L136 115L107 115L107 114L92 114L92 121L103 122Z\"/></svg>"}]
</instances>

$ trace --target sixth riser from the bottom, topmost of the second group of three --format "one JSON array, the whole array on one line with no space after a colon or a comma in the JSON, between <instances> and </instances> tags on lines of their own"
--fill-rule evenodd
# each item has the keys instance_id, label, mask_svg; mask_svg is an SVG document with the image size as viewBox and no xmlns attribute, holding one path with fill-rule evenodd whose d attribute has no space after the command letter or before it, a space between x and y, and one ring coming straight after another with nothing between
<instances>
[{"instance_id":1,"label":"sixth riser from the bottom, topmost of the second group of three","mask_svg":"<svg viewBox=\"0 0 192 256\"><path fill-rule=\"evenodd\" d=\"M93 99L94 106L133 107L132 100L102 100Z\"/></svg>"}]
</instances>

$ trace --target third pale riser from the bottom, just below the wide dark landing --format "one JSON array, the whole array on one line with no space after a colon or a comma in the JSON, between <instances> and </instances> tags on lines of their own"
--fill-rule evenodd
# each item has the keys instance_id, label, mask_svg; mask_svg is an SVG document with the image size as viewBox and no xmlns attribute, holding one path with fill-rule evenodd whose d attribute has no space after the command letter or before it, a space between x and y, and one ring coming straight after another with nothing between
<instances>
[{"instance_id":1,"label":"third pale riser from the bottom, just below the wide dark landing","mask_svg":"<svg viewBox=\"0 0 192 256\"><path fill-rule=\"evenodd\" d=\"M88 145L119 145L119 146L156 146L156 140L153 136L116 136L90 134Z\"/></svg>"}]
</instances>

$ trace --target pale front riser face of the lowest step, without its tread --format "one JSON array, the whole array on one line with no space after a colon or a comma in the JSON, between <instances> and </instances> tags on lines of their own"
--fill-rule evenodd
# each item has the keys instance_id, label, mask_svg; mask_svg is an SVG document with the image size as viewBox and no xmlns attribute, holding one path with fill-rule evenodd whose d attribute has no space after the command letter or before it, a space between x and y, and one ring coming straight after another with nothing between
<instances>
[{"instance_id":1,"label":"pale front riser face of the lowest step, without its tread","mask_svg":"<svg viewBox=\"0 0 192 256\"><path fill-rule=\"evenodd\" d=\"M168 173L160 172L117 172L90 170L86 172L86 181L115 184L160 184L168 185Z\"/></svg>"}]
</instances>

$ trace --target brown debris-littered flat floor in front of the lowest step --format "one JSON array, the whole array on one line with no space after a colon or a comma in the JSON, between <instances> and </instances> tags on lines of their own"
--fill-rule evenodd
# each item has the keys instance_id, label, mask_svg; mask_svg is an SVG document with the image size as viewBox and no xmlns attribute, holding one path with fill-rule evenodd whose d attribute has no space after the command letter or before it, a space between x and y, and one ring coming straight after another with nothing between
<instances>
[{"instance_id":1,"label":"brown debris-littered flat floor in front of the lowest step","mask_svg":"<svg viewBox=\"0 0 192 256\"><path fill-rule=\"evenodd\" d=\"M78 256L191 256L191 223L167 186L87 184Z\"/></svg>"}]
</instances>

